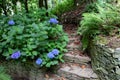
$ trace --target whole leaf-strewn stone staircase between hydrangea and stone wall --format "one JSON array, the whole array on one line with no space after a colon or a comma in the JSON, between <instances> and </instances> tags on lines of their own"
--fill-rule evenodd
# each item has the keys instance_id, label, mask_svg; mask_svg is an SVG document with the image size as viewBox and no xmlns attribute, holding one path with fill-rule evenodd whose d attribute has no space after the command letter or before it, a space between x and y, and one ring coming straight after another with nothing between
<instances>
[{"instance_id":1,"label":"whole leaf-strewn stone staircase between hydrangea and stone wall","mask_svg":"<svg viewBox=\"0 0 120 80\"><path fill-rule=\"evenodd\" d=\"M76 29L71 30L70 33L67 32L68 52L64 55L65 63L58 70L58 75L64 77L63 80L98 80L91 68L91 59L80 50L80 37L76 32Z\"/></svg>"}]
</instances>

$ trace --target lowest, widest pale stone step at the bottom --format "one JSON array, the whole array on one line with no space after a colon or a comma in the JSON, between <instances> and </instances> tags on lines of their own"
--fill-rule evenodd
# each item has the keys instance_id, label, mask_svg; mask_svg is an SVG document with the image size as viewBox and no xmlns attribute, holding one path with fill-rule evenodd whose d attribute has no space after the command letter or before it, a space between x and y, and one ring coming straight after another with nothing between
<instances>
[{"instance_id":1,"label":"lowest, widest pale stone step at the bottom","mask_svg":"<svg viewBox=\"0 0 120 80\"><path fill-rule=\"evenodd\" d=\"M67 80L99 80L90 67L82 68L78 65L62 66L58 70L58 75Z\"/></svg>"}]
</instances>

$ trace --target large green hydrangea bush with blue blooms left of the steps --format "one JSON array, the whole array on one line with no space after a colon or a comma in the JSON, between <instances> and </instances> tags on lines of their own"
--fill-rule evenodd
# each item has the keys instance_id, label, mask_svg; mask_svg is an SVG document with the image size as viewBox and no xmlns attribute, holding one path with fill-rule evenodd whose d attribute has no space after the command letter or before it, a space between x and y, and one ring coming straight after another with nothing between
<instances>
[{"instance_id":1,"label":"large green hydrangea bush with blue blooms left of the steps","mask_svg":"<svg viewBox=\"0 0 120 80\"><path fill-rule=\"evenodd\" d=\"M44 16L42 21L40 15L34 16L0 17L0 56L6 60L34 60L36 65L46 67L63 62L68 36L62 25L51 16Z\"/></svg>"}]
</instances>

